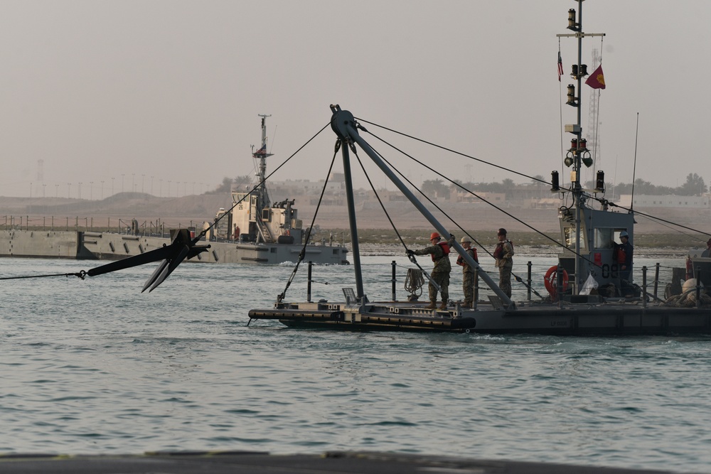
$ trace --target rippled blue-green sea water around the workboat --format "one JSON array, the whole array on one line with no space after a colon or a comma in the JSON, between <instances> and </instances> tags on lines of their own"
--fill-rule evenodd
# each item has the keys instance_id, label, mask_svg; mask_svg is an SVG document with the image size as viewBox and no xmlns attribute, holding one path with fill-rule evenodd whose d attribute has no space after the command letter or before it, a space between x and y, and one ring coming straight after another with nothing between
<instances>
[{"instance_id":1,"label":"rippled blue-green sea water around the workboat","mask_svg":"<svg viewBox=\"0 0 711 474\"><path fill-rule=\"evenodd\" d=\"M363 259L371 300L389 298L391 260ZM526 260L542 293L552 259L520 256L515 272ZM681 262L661 263L668 281ZM1 259L0 274L92 266ZM711 338L247 327L292 268L184 264L153 293L140 293L151 266L0 281L0 452L367 450L711 471ZM305 270L287 299L305 299ZM341 299L352 275L314 267L314 298Z\"/></svg>"}]
</instances>

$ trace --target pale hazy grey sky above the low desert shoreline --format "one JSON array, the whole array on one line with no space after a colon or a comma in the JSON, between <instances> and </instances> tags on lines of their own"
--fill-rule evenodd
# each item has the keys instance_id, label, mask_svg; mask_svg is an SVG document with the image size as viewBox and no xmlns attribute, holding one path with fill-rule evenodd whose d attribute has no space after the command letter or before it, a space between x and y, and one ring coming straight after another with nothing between
<instances>
[{"instance_id":1,"label":"pale hazy grey sky above the low desert shoreline","mask_svg":"<svg viewBox=\"0 0 711 474\"><path fill-rule=\"evenodd\" d=\"M0 0L0 195L76 198L81 182L81 197L97 199L122 181L145 192L152 181L164 196L169 181L171 195L204 191L253 173L258 114L272 116L271 171L328 123L332 103L548 178L561 169L561 109L563 124L575 120L561 105L577 59L572 38L561 40L562 82L556 73L556 34L569 33L572 8L576 1ZM591 65L602 48L598 166L608 181L632 180L639 113L636 178L675 186L697 172L710 183L711 1L587 0L583 9L584 31L606 33L584 42L583 58ZM581 96L584 129L590 91ZM324 178L334 141L327 129L274 179ZM464 181L528 181L436 151L419 157ZM430 178L400 163L412 181Z\"/></svg>"}]
</instances>

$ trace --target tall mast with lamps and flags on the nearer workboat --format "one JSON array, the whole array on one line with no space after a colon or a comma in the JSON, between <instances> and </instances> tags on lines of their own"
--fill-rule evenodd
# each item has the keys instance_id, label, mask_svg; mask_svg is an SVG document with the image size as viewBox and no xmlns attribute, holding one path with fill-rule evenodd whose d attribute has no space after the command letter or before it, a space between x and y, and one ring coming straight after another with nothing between
<instances>
[{"instance_id":1,"label":"tall mast with lamps and flags on the nearer workboat","mask_svg":"<svg viewBox=\"0 0 711 474\"><path fill-rule=\"evenodd\" d=\"M575 95L575 85L569 84L567 87L567 102L571 107L577 108L577 122L575 124L566 125L565 131L575 136L571 140L570 149L565 156L565 166L572 166L570 171L570 186L572 188L573 204L575 206L575 279L573 281L573 293L579 293L582 284L581 264L580 264L580 241L584 238L581 235L580 216L581 209L585 207L585 195L580 183L580 173L582 164L587 166L592 165L592 158L587 149L587 140L582 138L581 117L582 109L580 107L580 90L582 87L582 78L587 76L587 65L582 63L582 38L586 36L605 36L605 33L583 33L582 31L582 2L584 0L575 0L578 4L577 20L574 9L568 10L568 26L567 28L574 33L563 33L556 35L558 38L577 38L578 42L578 57L577 64L572 65L570 76L577 80L578 95Z\"/></svg>"}]
</instances>

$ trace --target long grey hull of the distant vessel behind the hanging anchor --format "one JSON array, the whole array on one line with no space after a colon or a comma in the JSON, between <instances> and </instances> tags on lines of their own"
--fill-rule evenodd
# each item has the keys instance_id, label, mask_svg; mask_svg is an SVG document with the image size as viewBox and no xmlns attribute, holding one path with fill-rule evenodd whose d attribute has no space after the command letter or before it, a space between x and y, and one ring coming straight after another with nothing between
<instances>
[{"instance_id":1,"label":"long grey hull of the distant vessel behind the hanging anchor","mask_svg":"<svg viewBox=\"0 0 711 474\"><path fill-rule=\"evenodd\" d=\"M171 240L110 232L0 230L0 257L120 260L144 254ZM201 242L208 252L190 262L220 264L280 264L296 262L299 244ZM307 245L304 260L315 264L347 264L346 247Z\"/></svg>"}]
</instances>

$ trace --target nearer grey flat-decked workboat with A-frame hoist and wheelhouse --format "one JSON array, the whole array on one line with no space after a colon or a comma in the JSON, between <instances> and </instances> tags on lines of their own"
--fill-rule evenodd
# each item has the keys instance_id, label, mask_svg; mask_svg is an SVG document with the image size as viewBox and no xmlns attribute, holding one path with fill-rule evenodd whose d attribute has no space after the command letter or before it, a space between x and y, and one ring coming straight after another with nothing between
<instances>
[{"instance_id":1,"label":"nearer grey flat-decked workboat with A-frame hoist and wheelhouse","mask_svg":"<svg viewBox=\"0 0 711 474\"><path fill-rule=\"evenodd\" d=\"M577 0L582 18L582 1ZM577 64L572 66L572 77L580 90L587 66L582 64L582 39L602 36L602 33L583 33L575 11L569 11L572 34L561 37L577 38ZM615 212L614 203L598 198L604 192L604 172L598 171L594 190L584 190L580 176L582 166L592 165L592 158L582 136L581 112L576 88L568 86L568 104L577 109L577 123L565 125L574 136L565 157L571 168L570 188L560 186L557 171L551 175L552 192L570 193L572 205L558 212L562 252L557 264L546 275L550 296L541 301L516 303L504 293L486 271L467 254L454 236L421 203L410 188L398 178L383 158L374 151L359 131L367 132L351 112L331 105L331 129L341 146L343 168L346 173L346 193L353 242L355 289L345 288L343 302L290 302L280 294L273 308L252 309L253 320L277 320L297 328L326 328L338 330L420 330L476 333L535 333L550 335L666 335L670 333L711 334L711 311L703 308L696 288L694 307L678 307L665 303L646 291L646 272L642 286L637 286L623 269L619 250L623 237L634 243L634 213ZM370 123L370 122L369 122ZM478 273L491 293L488 301L475 301L473 307L459 304L443 309L429 309L424 303L412 301L371 302L363 290L360 269L358 229L355 225L353 187L349 149L360 147L387 178L410 200L429 221L439 235L450 235L449 245ZM414 257L411 257L414 261ZM625 270L625 271L623 271ZM646 269L643 269L646 270ZM310 300L310 298L309 298Z\"/></svg>"}]
</instances>

